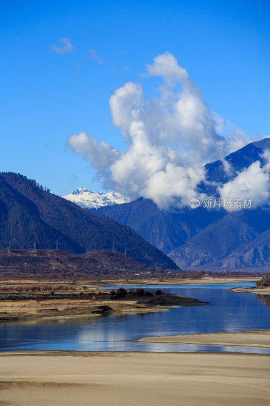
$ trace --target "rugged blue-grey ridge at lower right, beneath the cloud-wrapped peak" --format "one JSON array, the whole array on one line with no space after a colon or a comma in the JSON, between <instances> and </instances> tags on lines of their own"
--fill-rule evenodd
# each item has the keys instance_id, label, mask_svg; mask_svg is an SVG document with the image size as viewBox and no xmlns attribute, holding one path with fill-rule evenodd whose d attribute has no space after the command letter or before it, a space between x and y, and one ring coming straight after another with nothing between
<instances>
[{"instance_id":1,"label":"rugged blue-grey ridge at lower right, beneath the cloud-wrapped peak","mask_svg":"<svg viewBox=\"0 0 270 406\"><path fill-rule=\"evenodd\" d=\"M210 265L234 268L267 265L270 259L270 211L227 213L169 256L183 268ZM264 236L264 238L263 238ZM259 255L258 252L262 252Z\"/></svg>"}]
</instances>

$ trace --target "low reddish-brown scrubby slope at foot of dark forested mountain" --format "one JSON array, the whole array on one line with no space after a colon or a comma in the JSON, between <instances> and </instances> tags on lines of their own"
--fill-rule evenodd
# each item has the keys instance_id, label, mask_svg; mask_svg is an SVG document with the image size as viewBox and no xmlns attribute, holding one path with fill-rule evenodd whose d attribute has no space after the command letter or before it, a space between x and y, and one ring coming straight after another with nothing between
<instances>
[{"instance_id":1,"label":"low reddish-brown scrubby slope at foot of dark forested mountain","mask_svg":"<svg viewBox=\"0 0 270 406\"><path fill-rule=\"evenodd\" d=\"M122 252L91 250L72 254L60 250L0 249L1 279L10 277L42 279L98 278L150 272L147 266Z\"/></svg>"}]
</instances>

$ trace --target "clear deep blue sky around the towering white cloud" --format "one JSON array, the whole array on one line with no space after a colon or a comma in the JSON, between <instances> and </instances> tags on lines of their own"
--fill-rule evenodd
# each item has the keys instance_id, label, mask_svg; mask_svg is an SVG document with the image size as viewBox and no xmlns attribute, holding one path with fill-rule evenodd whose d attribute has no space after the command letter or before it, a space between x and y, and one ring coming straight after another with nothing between
<instances>
[{"instance_id":1,"label":"clear deep blue sky around the towering white cloud","mask_svg":"<svg viewBox=\"0 0 270 406\"><path fill-rule=\"evenodd\" d=\"M269 10L260 0L6 2L0 171L19 172L60 195L79 186L105 191L67 139L84 131L125 150L109 98L132 81L155 99L160 79L147 77L145 64L166 51L210 110L250 137L269 134ZM52 49L64 46L62 38L73 52Z\"/></svg>"}]
</instances>

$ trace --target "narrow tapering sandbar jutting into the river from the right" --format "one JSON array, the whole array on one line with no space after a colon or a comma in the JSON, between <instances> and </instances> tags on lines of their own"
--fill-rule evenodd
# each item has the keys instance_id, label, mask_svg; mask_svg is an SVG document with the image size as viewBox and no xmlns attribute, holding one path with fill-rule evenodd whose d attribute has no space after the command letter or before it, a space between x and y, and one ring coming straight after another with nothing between
<instances>
[{"instance_id":1,"label":"narrow tapering sandbar jutting into the river from the right","mask_svg":"<svg viewBox=\"0 0 270 406\"><path fill-rule=\"evenodd\" d=\"M164 335L160 337L144 337L138 341L142 343L270 348L270 330L218 332L214 334Z\"/></svg>"}]
</instances>

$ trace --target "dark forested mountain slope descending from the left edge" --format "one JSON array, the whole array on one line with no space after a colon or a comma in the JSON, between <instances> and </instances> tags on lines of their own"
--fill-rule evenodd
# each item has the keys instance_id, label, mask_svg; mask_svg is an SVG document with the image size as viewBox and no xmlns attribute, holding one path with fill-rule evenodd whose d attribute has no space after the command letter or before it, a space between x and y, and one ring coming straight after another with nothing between
<instances>
[{"instance_id":1,"label":"dark forested mountain slope descending from the left edge","mask_svg":"<svg viewBox=\"0 0 270 406\"><path fill-rule=\"evenodd\" d=\"M93 249L125 252L150 267L175 269L164 253L126 225L84 210L14 173L0 173L0 247L59 249L84 253Z\"/></svg>"}]
</instances>

